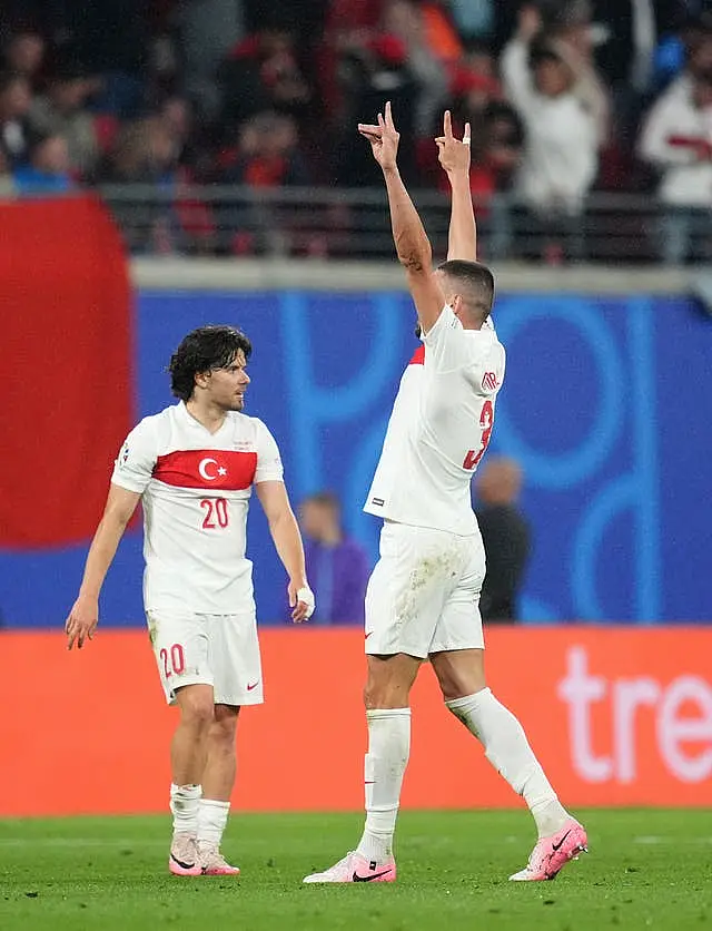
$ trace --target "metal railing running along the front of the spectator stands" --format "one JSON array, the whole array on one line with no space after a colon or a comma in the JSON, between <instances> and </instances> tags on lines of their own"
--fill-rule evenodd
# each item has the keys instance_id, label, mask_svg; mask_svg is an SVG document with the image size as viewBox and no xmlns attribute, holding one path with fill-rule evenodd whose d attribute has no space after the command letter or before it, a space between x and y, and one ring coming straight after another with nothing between
<instances>
[{"instance_id":1,"label":"metal railing running along the front of the spectator stands","mask_svg":"<svg viewBox=\"0 0 712 931\"><path fill-rule=\"evenodd\" d=\"M250 188L107 185L99 194L138 255L314 256L390 259L385 192L377 188ZM434 253L447 251L449 199L414 194ZM652 196L596 194L577 216L542 217L511 195L477 205L483 255L647 264L712 257L712 214L671 210Z\"/></svg>"}]
</instances>

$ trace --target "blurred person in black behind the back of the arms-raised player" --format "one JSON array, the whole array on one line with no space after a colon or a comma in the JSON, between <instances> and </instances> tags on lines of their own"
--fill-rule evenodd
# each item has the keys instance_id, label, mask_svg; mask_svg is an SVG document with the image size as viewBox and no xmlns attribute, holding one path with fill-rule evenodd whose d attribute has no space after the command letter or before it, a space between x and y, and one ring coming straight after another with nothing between
<instances>
[{"instance_id":1,"label":"blurred person in black behind the back of the arms-raised player","mask_svg":"<svg viewBox=\"0 0 712 931\"><path fill-rule=\"evenodd\" d=\"M487 574L479 610L488 623L520 619L518 592L530 556L530 528L517 507L522 470L512 459L487 457L475 476L477 523Z\"/></svg>"}]
</instances>

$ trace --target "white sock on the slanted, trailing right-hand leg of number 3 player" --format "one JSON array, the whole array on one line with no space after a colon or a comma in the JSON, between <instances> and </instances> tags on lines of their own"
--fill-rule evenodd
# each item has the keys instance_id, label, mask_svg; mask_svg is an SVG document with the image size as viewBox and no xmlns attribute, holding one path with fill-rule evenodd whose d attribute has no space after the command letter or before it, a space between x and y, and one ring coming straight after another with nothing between
<instances>
[{"instance_id":1,"label":"white sock on the slanted, trailing right-hand leg of number 3 player","mask_svg":"<svg viewBox=\"0 0 712 931\"><path fill-rule=\"evenodd\" d=\"M485 755L517 795L524 796L540 837L555 834L570 817L544 775L526 734L511 710L483 688L445 703L485 748Z\"/></svg>"}]
</instances>

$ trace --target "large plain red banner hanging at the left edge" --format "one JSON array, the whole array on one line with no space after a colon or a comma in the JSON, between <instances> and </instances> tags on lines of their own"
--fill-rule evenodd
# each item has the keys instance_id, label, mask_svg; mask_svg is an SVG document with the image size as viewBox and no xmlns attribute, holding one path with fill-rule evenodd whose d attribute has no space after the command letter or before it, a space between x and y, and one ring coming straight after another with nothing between
<instances>
[{"instance_id":1,"label":"large plain red banner hanging at the left edge","mask_svg":"<svg viewBox=\"0 0 712 931\"><path fill-rule=\"evenodd\" d=\"M90 537L131 427L127 262L90 198L0 206L0 547Z\"/></svg>"}]
</instances>

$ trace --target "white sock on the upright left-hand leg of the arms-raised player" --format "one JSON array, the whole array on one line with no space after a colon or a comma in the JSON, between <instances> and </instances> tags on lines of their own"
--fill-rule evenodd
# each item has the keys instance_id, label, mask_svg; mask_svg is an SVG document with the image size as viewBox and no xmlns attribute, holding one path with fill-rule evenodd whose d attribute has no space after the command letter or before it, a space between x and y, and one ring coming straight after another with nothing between
<instances>
[{"instance_id":1,"label":"white sock on the upright left-hand leg of the arms-raised player","mask_svg":"<svg viewBox=\"0 0 712 931\"><path fill-rule=\"evenodd\" d=\"M366 826L356 852L369 862L383 863L393 856L400 786L411 754L411 708L369 710L366 721Z\"/></svg>"}]
</instances>

